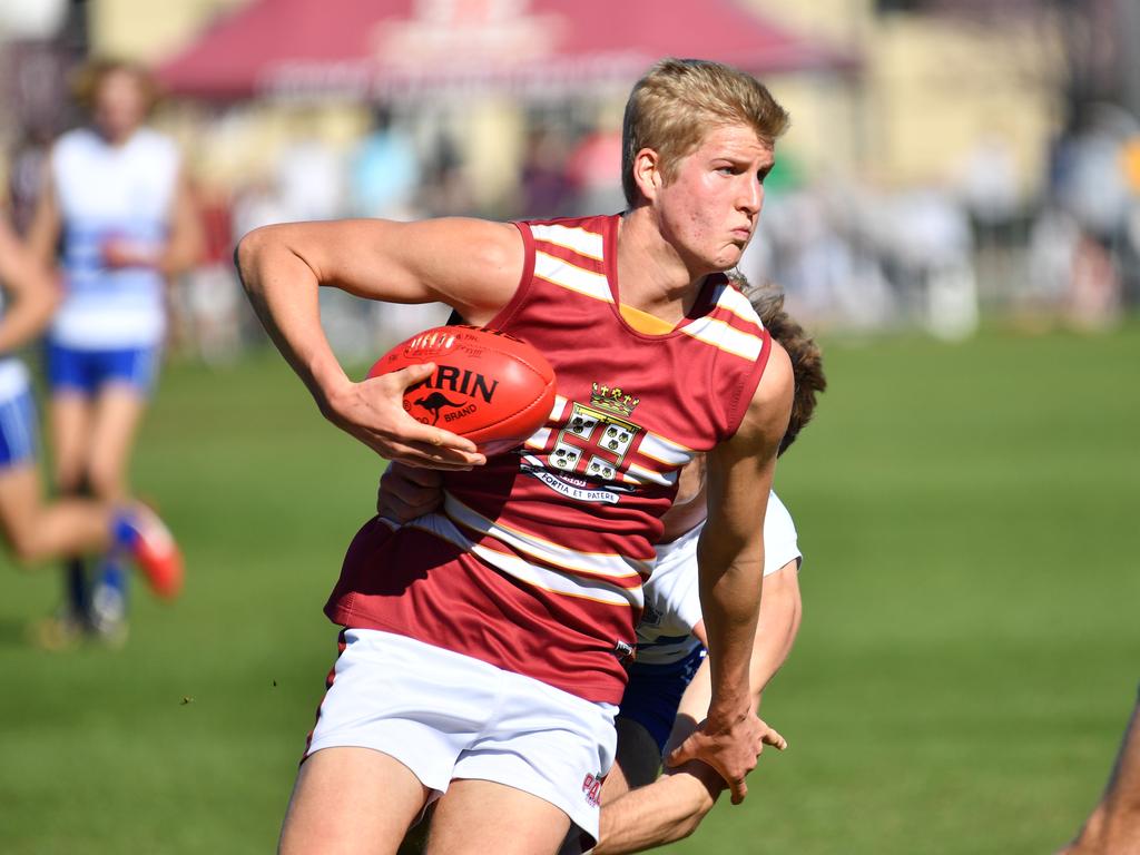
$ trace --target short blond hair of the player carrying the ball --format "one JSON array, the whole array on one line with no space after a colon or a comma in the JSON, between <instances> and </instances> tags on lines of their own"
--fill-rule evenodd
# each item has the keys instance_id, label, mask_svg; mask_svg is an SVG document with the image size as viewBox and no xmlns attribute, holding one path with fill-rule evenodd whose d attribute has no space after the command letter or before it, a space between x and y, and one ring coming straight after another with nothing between
<instances>
[{"instance_id":1,"label":"short blond hair of the player carrying the ball","mask_svg":"<svg viewBox=\"0 0 1140 855\"><path fill-rule=\"evenodd\" d=\"M641 198L634 158L643 148L660 157L668 181L677 162L695 149L710 127L746 124L772 145L788 128L788 113L750 74L706 59L662 59L637 81L621 127L621 188Z\"/></svg>"}]
</instances>

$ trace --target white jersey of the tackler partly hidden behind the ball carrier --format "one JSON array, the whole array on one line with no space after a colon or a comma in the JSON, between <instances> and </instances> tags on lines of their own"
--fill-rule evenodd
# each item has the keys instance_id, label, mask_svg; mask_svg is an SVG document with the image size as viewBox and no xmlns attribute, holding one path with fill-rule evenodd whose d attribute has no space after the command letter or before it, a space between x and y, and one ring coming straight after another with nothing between
<instances>
[{"instance_id":1,"label":"white jersey of the tackler partly hidden behind the ball carrier","mask_svg":"<svg viewBox=\"0 0 1140 855\"><path fill-rule=\"evenodd\" d=\"M653 575L645 584L645 611L637 626L637 661L669 665L684 659L700 642L693 627L701 619L697 577L697 542L703 523L657 547ZM768 494L764 515L764 575L791 561L801 562L796 523L775 492Z\"/></svg>"}]
</instances>

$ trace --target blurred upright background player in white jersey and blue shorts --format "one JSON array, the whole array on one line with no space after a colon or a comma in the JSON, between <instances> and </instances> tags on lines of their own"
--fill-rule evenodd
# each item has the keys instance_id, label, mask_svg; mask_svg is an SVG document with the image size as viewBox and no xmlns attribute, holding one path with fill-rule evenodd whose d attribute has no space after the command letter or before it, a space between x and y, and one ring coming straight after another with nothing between
<instances>
[{"instance_id":1,"label":"blurred upright background player in white jersey and blue shorts","mask_svg":"<svg viewBox=\"0 0 1140 855\"><path fill-rule=\"evenodd\" d=\"M62 246L64 300L48 334L56 480L67 495L128 494L135 433L154 386L166 329L168 277L194 263L201 229L174 144L142 122L146 74L97 63L88 72L91 127L52 148L30 241L44 261ZM116 627L125 577L104 565L93 593L68 569L71 610Z\"/></svg>"}]
</instances>

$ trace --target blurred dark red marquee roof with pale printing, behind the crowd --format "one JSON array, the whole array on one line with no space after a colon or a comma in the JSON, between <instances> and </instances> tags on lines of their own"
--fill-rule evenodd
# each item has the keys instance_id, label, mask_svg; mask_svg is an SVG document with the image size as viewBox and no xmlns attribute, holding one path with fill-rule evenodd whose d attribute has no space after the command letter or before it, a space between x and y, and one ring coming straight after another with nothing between
<instances>
[{"instance_id":1,"label":"blurred dark red marquee roof with pale printing, behind the crowd","mask_svg":"<svg viewBox=\"0 0 1140 855\"><path fill-rule=\"evenodd\" d=\"M253 0L157 71L204 98L399 97L628 85L662 56L754 73L852 65L733 0Z\"/></svg>"}]
</instances>

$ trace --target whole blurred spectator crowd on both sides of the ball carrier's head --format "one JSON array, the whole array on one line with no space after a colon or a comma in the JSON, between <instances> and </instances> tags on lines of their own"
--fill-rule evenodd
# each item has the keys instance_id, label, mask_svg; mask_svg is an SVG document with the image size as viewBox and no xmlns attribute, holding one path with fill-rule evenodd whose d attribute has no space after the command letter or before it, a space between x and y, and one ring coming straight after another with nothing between
<instances>
[{"instance_id":1,"label":"whole blurred spectator crowd on both sides of the ball carrier's head","mask_svg":"<svg viewBox=\"0 0 1140 855\"><path fill-rule=\"evenodd\" d=\"M260 341L230 261L236 241L260 225L620 210L620 129L573 116L522 123L507 189L490 202L473 190L478 166L454 132L437 124L425 133L406 105L402 112L373 107L367 128L348 140L298 135L247 178L194 181L192 169L206 252L171 292L173 352L223 361ZM50 144L50 136L27 132L10 154L18 228L34 204ZM912 187L808 174L797 166L795 148L791 138L779 149L741 272L783 287L789 308L815 329L921 328L958 339L983 315L1028 328L1098 329L1140 299L1140 122L1118 108L1089 109L1052 145L1043 189L1028 199L996 135L979 140L938 184ZM186 155L193 166L194 152ZM340 293L323 299L331 340L349 359L365 360L447 317L434 306L393 310Z\"/></svg>"}]
</instances>

